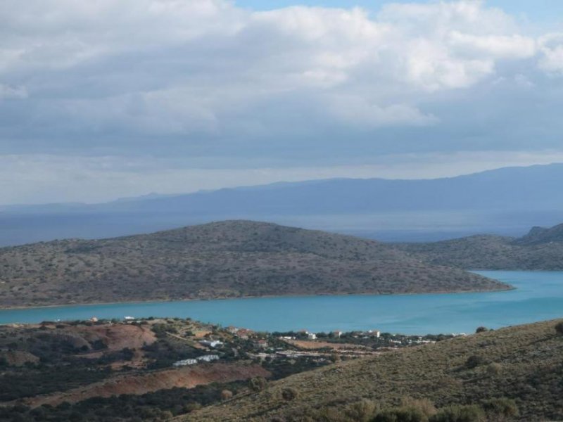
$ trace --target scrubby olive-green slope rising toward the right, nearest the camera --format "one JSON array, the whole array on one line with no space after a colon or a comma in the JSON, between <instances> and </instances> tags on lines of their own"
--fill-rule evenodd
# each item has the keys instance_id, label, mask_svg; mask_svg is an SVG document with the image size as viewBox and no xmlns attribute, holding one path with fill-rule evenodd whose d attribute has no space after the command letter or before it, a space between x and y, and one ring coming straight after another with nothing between
<instances>
[{"instance_id":1,"label":"scrubby olive-green slope rising toward the right, nearest the camera","mask_svg":"<svg viewBox=\"0 0 563 422\"><path fill-rule=\"evenodd\" d=\"M369 409L370 402L372 408L385 409L397 406L404 397L426 398L438 408L505 397L519 408L514 419L560 421L563 333L555 328L562 322L502 328L298 373L184 420L367 421L346 418L345 409L351 410L350 405L362 399L356 415L359 409Z\"/></svg>"}]
</instances>

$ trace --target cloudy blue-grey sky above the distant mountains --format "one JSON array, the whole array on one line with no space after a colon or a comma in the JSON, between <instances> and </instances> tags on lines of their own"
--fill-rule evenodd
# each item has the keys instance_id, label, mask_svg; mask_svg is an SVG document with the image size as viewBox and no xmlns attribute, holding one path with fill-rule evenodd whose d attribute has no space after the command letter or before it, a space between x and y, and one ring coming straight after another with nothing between
<instances>
[{"instance_id":1,"label":"cloudy blue-grey sky above the distant mountains","mask_svg":"<svg viewBox=\"0 0 563 422\"><path fill-rule=\"evenodd\" d=\"M4 0L0 203L563 162L559 0Z\"/></svg>"}]
</instances>

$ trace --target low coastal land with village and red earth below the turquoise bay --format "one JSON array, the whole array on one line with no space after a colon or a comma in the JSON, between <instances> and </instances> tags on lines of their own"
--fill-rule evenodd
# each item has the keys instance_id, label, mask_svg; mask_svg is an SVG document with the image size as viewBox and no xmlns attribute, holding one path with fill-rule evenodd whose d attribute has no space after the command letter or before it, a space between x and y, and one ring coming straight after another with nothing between
<instances>
[{"instance_id":1,"label":"low coastal land with village and red earth below the turquoise bay","mask_svg":"<svg viewBox=\"0 0 563 422\"><path fill-rule=\"evenodd\" d=\"M377 329L267 333L189 318L134 316L1 328L0 368L11 381L0 395L4 402L24 406L9 411L16 414L44 404L56 413L63 403L73 406L91 397L106 397L120 414L134 413L157 397L165 397L166 404L152 409L154 414L189 413L320 366L452 336Z\"/></svg>"}]
</instances>

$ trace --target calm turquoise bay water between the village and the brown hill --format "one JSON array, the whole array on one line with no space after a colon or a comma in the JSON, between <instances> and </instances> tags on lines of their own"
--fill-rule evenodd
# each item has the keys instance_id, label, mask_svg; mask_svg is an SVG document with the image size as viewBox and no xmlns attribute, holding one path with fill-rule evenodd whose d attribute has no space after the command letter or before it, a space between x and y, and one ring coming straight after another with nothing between
<instances>
[{"instance_id":1,"label":"calm turquoise bay water between the village and the brown hill","mask_svg":"<svg viewBox=\"0 0 563 422\"><path fill-rule=\"evenodd\" d=\"M476 271L516 290L424 295L299 296L0 310L0 324L56 319L189 316L254 330L471 333L563 317L563 271Z\"/></svg>"}]
</instances>

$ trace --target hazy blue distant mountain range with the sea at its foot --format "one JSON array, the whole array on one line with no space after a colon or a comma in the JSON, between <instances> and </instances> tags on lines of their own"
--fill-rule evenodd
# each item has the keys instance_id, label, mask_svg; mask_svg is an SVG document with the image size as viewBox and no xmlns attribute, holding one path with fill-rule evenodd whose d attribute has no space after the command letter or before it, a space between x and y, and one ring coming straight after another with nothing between
<instances>
[{"instance_id":1,"label":"hazy blue distant mountain range with the sea at its foot","mask_svg":"<svg viewBox=\"0 0 563 422\"><path fill-rule=\"evenodd\" d=\"M151 194L111 203L0 207L0 245L103 238L255 219L382 241L521 236L563 220L563 164L426 180L328 179Z\"/></svg>"}]
</instances>

